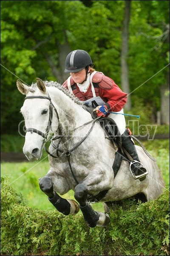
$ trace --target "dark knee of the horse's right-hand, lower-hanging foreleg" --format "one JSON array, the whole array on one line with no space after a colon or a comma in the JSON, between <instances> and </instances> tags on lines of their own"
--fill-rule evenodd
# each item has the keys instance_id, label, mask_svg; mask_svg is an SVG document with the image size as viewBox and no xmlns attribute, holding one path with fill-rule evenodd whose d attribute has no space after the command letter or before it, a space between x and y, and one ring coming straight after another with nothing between
<instances>
[{"instance_id":1,"label":"dark knee of the horse's right-hand, lower-hanging foreleg","mask_svg":"<svg viewBox=\"0 0 170 256\"><path fill-rule=\"evenodd\" d=\"M85 184L78 184L75 187L75 193L74 193L74 198L79 202L81 206L86 205L86 200L88 196L88 189Z\"/></svg>"}]
</instances>

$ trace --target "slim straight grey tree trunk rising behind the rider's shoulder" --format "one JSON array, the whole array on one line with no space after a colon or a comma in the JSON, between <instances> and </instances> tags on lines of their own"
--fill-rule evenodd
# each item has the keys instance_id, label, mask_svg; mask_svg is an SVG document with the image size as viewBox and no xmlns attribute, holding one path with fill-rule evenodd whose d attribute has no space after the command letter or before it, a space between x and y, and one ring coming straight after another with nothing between
<instances>
[{"instance_id":1,"label":"slim straight grey tree trunk rising behind the rider's shoulder","mask_svg":"<svg viewBox=\"0 0 170 256\"><path fill-rule=\"evenodd\" d=\"M129 85L129 69L127 64L127 56L128 56L128 26L130 20L130 4L131 0L124 1L125 2L125 12L123 19L123 27L122 27L122 51L121 51L121 84L122 90L127 93L127 103L125 105L125 109L131 109L131 100L130 100L130 85Z\"/></svg>"}]
</instances>

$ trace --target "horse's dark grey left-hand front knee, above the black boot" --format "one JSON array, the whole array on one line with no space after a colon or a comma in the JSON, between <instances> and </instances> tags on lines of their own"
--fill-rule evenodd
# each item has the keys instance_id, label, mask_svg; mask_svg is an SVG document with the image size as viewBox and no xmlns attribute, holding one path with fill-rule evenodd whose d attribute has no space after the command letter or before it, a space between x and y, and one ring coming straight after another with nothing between
<instances>
[{"instance_id":1,"label":"horse's dark grey left-hand front knee, above the black boot","mask_svg":"<svg viewBox=\"0 0 170 256\"><path fill-rule=\"evenodd\" d=\"M48 195L49 198L54 197L53 182L50 177L44 176L43 178L41 178L39 182L39 186L42 192Z\"/></svg>"}]
</instances>

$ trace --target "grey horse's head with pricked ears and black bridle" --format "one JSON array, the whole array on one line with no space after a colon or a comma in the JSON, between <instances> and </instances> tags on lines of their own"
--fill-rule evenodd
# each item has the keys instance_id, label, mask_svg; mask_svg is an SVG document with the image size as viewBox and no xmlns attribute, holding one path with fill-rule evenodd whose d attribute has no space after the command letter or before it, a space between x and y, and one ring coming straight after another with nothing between
<instances>
[{"instance_id":1,"label":"grey horse's head with pricked ears and black bridle","mask_svg":"<svg viewBox=\"0 0 170 256\"><path fill-rule=\"evenodd\" d=\"M41 79L37 78L37 83L30 87L18 79L17 88L26 95L21 108L26 128L23 153L28 160L36 161L42 157L45 143L57 131L59 115Z\"/></svg>"}]
</instances>

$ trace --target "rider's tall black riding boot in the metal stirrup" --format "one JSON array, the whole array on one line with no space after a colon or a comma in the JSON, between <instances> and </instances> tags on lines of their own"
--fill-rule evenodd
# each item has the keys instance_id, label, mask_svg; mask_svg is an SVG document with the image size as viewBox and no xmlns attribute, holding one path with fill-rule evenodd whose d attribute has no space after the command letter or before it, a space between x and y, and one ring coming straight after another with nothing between
<instances>
[{"instance_id":1,"label":"rider's tall black riding boot in the metal stirrup","mask_svg":"<svg viewBox=\"0 0 170 256\"><path fill-rule=\"evenodd\" d=\"M130 163L130 171L134 179L139 179L143 181L148 174L147 170L144 168L142 163L140 163L135 145L132 141L132 138L129 134L129 130L126 129L125 132L121 135L122 137L122 147L125 148L128 154L133 158L133 161Z\"/></svg>"}]
</instances>

